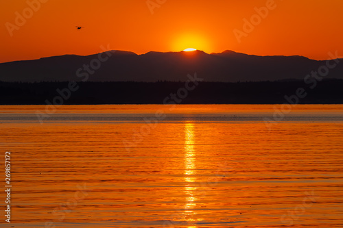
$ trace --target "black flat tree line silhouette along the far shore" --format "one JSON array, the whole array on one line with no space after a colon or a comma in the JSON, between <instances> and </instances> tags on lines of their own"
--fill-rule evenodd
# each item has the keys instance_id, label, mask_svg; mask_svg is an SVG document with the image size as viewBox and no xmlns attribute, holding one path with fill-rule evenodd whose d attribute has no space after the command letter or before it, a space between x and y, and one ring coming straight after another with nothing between
<instances>
[{"instance_id":1,"label":"black flat tree line silhouette along the far shore","mask_svg":"<svg viewBox=\"0 0 343 228\"><path fill-rule=\"evenodd\" d=\"M0 81L1 105L44 105L58 96L58 88L68 88L64 82L4 82ZM163 104L165 97L185 86L185 81L156 82L78 82L78 90L71 92L66 105L78 104ZM285 103L285 96L304 88L307 96L303 104L343 103L343 79L318 82L316 88L300 80L245 81L236 83L201 81L188 92L182 104L276 104Z\"/></svg>"}]
</instances>

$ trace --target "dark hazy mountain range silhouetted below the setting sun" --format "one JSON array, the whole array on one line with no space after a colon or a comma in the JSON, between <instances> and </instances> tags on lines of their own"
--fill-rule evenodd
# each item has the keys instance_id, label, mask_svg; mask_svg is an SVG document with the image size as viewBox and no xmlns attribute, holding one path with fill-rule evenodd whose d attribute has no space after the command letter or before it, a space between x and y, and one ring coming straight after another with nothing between
<instances>
[{"instance_id":1,"label":"dark hazy mountain range silhouetted below the setting sun","mask_svg":"<svg viewBox=\"0 0 343 228\"><path fill-rule=\"evenodd\" d=\"M186 81L187 74L194 73L204 81L277 81L304 79L325 64L297 55L257 56L234 51L150 51L143 55L108 51L3 63L0 81ZM331 69L327 78L343 79L343 64Z\"/></svg>"}]
</instances>

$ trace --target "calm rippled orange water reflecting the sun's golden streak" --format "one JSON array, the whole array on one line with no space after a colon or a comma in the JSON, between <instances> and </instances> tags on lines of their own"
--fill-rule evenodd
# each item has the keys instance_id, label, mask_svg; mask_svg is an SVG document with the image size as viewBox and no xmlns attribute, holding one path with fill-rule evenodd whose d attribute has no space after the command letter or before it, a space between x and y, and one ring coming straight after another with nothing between
<instances>
[{"instance_id":1,"label":"calm rippled orange water reflecting the sun's golden streak","mask_svg":"<svg viewBox=\"0 0 343 228\"><path fill-rule=\"evenodd\" d=\"M343 105L274 108L1 106L0 226L343 227Z\"/></svg>"}]
</instances>

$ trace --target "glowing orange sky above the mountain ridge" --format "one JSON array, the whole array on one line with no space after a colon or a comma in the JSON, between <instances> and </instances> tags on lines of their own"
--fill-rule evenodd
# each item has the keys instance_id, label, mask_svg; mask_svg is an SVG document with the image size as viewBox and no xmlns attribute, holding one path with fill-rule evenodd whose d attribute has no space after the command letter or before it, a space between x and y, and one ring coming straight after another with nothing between
<instances>
[{"instance_id":1,"label":"glowing orange sky above the mountain ridge","mask_svg":"<svg viewBox=\"0 0 343 228\"><path fill-rule=\"evenodd\" d=\"M32 15L26 0L0 1L0 62L88 55L108 44L139 54L192 47L316 60L328 59L329 51L343 55L342 0L149 0L158 4L152 11L146 0L40 1L46 3ZM266 4L272 8L268 15L260 16L239 42L234 29L244 32L243 19L250 21L257 14L254 8ZM23 11L26 22L14 29L15 12Z\"/></svg>"}]
</instances>

